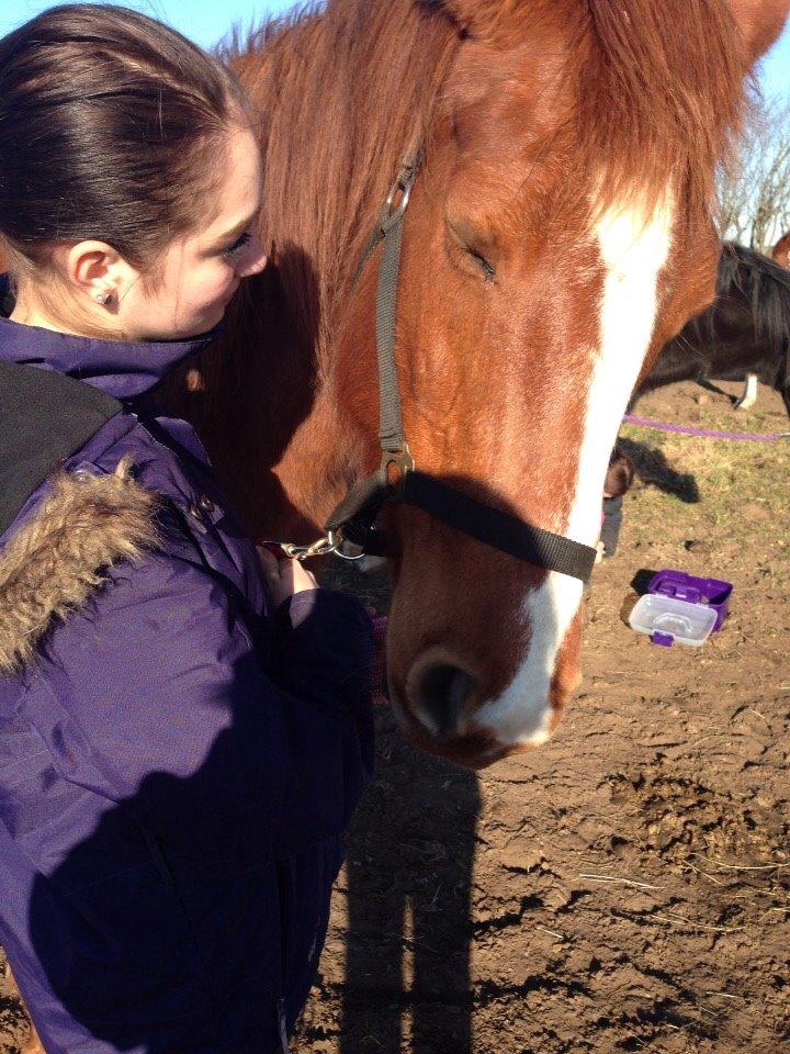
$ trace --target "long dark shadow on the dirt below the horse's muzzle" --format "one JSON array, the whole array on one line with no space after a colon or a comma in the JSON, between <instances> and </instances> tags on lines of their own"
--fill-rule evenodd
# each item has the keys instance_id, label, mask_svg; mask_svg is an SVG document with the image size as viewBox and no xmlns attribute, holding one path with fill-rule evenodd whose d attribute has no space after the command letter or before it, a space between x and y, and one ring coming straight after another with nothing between
<instances>
[{"instance_id":1,"label":"long dark shadow on the dirt below the horse's muzzle","mask_svg":"<svg viewBox=\"0 0 790 1054\"><path fill-rule=\"evenodd\" d=\"M471 1054L477 778L376 714L376 777L349 846L342 1054Z\"/></svg>"}]
</instances>

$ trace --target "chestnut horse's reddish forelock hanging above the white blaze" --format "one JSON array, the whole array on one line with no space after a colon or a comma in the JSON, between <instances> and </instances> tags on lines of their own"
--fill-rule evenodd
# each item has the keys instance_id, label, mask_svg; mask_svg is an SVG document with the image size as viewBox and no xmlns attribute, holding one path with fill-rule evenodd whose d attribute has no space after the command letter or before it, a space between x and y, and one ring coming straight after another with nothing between
<instances>
[{"instance_id":1,"label":"chestnut horse's reddish forelock hanging above the white blaze","mask_svg":"<svg viewBox=\"0 0 790 1054\"><path fill-rule=\"evenodd\" d=\"M715 168L731 157L744 109L747 60L726 0L448 0L440 7L465 20L472 45L488 45L485 61L460 64L453 92L460 104L483 98L485 81L507 65L505 53L517 59L521 49L530 77L538 59L545 70L534 98L526 97L524 117L537 105L555 108L556 128L573 130L574 169L598 173L600 212L617 203L648 214L668 189L689 212L710 208ZM562 61L552 63L557 55ZM522 87L503 78L497 91ZM517 133L501 130L503 136Z\"/></svg>"}]
</instances>

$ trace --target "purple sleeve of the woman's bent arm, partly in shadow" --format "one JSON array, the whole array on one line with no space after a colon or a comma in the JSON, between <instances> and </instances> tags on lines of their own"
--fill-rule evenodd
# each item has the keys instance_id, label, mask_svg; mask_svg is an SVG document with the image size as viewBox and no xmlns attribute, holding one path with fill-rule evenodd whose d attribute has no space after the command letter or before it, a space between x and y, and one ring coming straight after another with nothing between
<instances>
[{"instance_id":1,"label":"purple sleeve of the woman's bent arm, partly in shadow","mask_svg":"<svg viewBox=\"0 0 790 1054\"><path fill-rule=\"evenodd\" d=\"M364 609L311 591L278 623L264 660L221 576L157 553L116 568L52 635L42 736L66 778L120 804L169 863L289 855L340 833L370 778Z\"/></svg>"}]
</instances>

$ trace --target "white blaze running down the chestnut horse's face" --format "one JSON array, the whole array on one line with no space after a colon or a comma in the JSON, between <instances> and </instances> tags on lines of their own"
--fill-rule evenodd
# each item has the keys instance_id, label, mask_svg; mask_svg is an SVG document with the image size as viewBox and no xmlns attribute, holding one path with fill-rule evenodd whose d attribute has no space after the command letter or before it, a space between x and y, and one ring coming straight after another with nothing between
<instances>
[{"instance_id":1,"label":"white blaze running down the chestnut horse's face","mask_svg":"<svg viewBox=\"0 0 790 1054\"><path fill-rule=\"evenodd\" d=\"M600 304L600 347L590 366L578 476L565 534L595 546L609 456L650 346L657 310L658 272L669 254L673 210L607 212L596 228L607 274ZM475 714L503 743L549 738L549 688L557 652L582 599L582 583L550 571L522 607L531 627L524 661L497 699Z\"/></svg>"}]
</instances>

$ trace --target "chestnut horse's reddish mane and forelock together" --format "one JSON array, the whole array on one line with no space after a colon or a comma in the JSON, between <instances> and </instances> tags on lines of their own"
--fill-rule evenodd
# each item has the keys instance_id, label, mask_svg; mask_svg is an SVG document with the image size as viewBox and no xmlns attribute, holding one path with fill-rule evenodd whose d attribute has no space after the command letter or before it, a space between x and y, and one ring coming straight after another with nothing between
<instances>
[{"instance_id":1,"label":"chestnut horse's reddish mane and forelock together","mask_svg":"<svg viewBox=\"0 0 790 1054\"><path fill-rule=\"evenodd\" d=\"M527 23L569 42L564 116L578 170L606 177L599 204L655 204L670 183L682 204L710 204L745 68L725 0L328 0L237 34L221 54L258 114L262 235L319 370L360 249L404 153L431 125L461 42L494 26L495 41L517 45ZM247 333L256 314L251 328L266 329L262 283L247 283L237 307ZM233 343L233 318L228 332Z\"/></svg>"}]
</instances>

